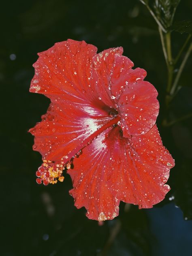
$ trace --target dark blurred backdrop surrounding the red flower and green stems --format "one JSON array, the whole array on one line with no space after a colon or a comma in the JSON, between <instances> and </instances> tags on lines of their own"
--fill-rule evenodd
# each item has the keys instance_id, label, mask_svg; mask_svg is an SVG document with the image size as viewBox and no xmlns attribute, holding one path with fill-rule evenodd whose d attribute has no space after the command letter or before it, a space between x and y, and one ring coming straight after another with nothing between
<instances>
[{"instance_id":1,"label":"dark blurred backdrop surrounding the red flower and green stems","mask_svg":"<svg viewBox=\"0 0 192 256\"><path fill-rule=\"evenodd\" d=\"M192 1L181 0L175 20L191 15ZM167 73L158 28L139 0L3 1L0 35L0 255L191 255L192 125L191 119L175 120L192 111L192 58L167 110ZM172 36L174 55L187 35ZM37 52L68 38L85 40L98 51L122 46L135 67L147 70L147 81L159 92L162 141L176 163L168 181L172 190L163 202L145 210L121 203L119 217L102 226L88 220L85 209L74 207L68 175L54 186L35 181L41 155L32 151L28 129L41 120L49 99L29 93L32 64ZM162 126L165 118L174 124Z\"/></svg>"}]
</instances>

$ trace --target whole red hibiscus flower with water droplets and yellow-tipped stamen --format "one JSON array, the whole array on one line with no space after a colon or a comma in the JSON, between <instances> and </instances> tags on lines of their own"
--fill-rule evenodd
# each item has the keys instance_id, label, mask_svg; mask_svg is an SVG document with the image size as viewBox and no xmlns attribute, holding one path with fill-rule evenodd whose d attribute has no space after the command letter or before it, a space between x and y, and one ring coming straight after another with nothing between
<instances>
[{"instance_id":1,"label":"whole red hibiscus flower with water droplets and yellow-tipped stamen","mask_svg":"<svg viewBox=\"0 0 192 256\"><path fill-rule=\"evenodd\" d=\"M174 160L156 117L158 93L146 71L122 56L122 47L96 54L84 41L67 40L38 53L30 92L51 99L42 121L30 129L43 156L37 183L73 181L70 194L87 217L111 220L119 202L150 208L170 190Z\"/></svg>"}]
</instances>

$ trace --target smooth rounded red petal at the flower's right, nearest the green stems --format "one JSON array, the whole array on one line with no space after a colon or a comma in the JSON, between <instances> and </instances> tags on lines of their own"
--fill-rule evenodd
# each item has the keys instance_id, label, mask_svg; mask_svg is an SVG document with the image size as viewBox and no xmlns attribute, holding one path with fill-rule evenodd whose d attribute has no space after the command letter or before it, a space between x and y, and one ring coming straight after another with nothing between
<instances>
[{"instance_id":1,"label":"smooth rounded red petal at the flower's right, nearest the green stems","mask_svg":"<svg viewBox=\"0 0 192 256\"><path fill-rule=\"evenodd\" d=\"M145 134L156 123L159 113L157 91L151 83L138 81L124 89L118 100L118 112L124 137Z\"/></svg>"}]
</instances>

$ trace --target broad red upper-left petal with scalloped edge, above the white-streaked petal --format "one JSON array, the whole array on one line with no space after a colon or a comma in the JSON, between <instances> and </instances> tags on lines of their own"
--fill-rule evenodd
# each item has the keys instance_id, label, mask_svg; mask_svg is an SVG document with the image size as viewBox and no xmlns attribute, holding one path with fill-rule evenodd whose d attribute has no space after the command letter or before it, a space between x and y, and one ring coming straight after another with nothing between
<instances>
[{"instance_id":1,"label":"broad red upper-left petal with scalloped edge, above the white-streaked petal","mask_svg":"<svg viewBox=\"0 0 192 256\"><path fill-rule=\"evenodd\" d=\"M68 39L38 53L30 92L42 93L49 98L63 95L84 99L85 91L91 94L90 74L96 51L94 45L85 41Z\"/></svg>"}]
</instances>

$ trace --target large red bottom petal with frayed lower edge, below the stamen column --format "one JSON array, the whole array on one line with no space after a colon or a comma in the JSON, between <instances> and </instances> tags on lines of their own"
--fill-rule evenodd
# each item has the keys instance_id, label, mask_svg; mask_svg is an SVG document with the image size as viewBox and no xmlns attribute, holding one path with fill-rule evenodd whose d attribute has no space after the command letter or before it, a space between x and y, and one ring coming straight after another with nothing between
<instances>
[{"instance_id":1,"label":"large red bottom petal with frayed lower edge, below the stamen column","mask_svg":"<svg viewBox=\"0 0 192 256\"><path fill-rule=\"evenodd\" d=\"M174 160L156 126L140 136L122 137L118 126L102 132L82 150L68 171L77 208L94 220L113 219L119 202L151 208L169 191L166 181Z\"/></svg>"}]
</instances>

